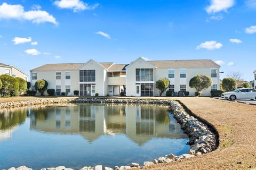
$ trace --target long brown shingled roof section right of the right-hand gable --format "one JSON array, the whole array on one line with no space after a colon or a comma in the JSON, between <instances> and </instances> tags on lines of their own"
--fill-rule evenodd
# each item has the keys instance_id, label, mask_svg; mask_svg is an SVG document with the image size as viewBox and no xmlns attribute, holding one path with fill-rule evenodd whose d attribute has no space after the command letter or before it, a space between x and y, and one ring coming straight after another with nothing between
<instances>
[{"instance_id":1,"label":"long brown shingled roof section right of the right-hand gable","mask_svg":"<svg viewBox=\"0 0 256 170\"><path fill-rule=\"evenodd\" d=\"M212 60L167 60L147 61L159 68L220 67Z\"/></svg>"}]
</instances>

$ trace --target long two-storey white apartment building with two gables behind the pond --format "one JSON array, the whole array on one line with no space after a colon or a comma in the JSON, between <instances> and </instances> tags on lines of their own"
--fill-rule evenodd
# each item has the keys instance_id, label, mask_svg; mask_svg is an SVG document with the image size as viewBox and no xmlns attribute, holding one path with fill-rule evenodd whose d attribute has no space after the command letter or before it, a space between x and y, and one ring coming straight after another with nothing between
<instances>
[{"instance_id":1,"label":"long two-storey white apartment building with two gables behind the pond","mask_svg":"<svg viewBox=\"0 0 256 170\"><path fill-rule=\"evenodd\" d=\"M189 80L198 74L209 75L213 86L203 91L210 96L211 90L219 90L220 66L212 60L174 60L146 61L138 58L130 64L98 63L89 60L86 63L46 64L30 70L31 88L36 80L45 79L49 89L55 89L57 95L79 90L79 96L114 96L126 91L126 96L159 96L155 82L169 78L169 90L189 91L195 95L195 89L189 87ZM165 93L163 94L165 95Z\"/></svg>"}]
</instances>

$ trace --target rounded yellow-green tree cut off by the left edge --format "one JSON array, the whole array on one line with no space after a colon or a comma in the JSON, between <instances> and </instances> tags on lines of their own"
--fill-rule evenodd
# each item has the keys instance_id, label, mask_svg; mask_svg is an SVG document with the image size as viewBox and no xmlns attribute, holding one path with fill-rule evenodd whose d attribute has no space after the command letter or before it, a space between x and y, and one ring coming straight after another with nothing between
<instances>
[{"instance_id":1,"label":"rounded yellow-green tree cut off by the left edge","mask_svg":"<svg viewBox=\"0 0 256 170\"><path fill-rule=\"evenodd\" d=\"M19 91L19 81L17 81L10 75L0 75L0 80L2 82L2 87L0 89L2 97L6 94L11 95L11 93L13 93L14 91Z\"/></svg>"}]
</instances>

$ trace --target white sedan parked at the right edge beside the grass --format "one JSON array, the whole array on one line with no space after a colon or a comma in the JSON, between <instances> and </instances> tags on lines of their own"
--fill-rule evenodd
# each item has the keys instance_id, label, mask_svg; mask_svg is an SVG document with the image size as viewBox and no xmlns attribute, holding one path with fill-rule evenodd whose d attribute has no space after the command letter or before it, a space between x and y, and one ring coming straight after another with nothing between
<instances>
[{"instance_id":1,"label":"white sedan parked at the right edge beside the grass","mask_svg":"<svg viewBox=\"0 0 256 170\"><path fill-rule=\"evenodd\" d=\"M221 98L227 100L237 100L237 99L251 99L256 100L256 89L236 89L234 91L225 92L221 95Z\"/></svg>"}]
</instances>

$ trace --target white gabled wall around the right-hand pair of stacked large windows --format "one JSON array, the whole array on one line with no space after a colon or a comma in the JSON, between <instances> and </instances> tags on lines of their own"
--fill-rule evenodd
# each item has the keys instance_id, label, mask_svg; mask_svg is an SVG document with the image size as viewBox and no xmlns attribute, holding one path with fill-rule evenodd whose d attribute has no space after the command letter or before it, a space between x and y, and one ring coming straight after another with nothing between
<instances>
[{"instance_id":1,"label":"white gabled wall around the right-hand pair of stacked large windows","mask_svg":"<svg viewBox=\"0 0 256 170\"><path fill-rule=\"evenodd\" d=\"M147 63L142 58L126 67L126 96L136 95L136 83L154 83L154 81L136 81L136 69L153 69L154 66Z\"/></svg>"}]
</instances>

